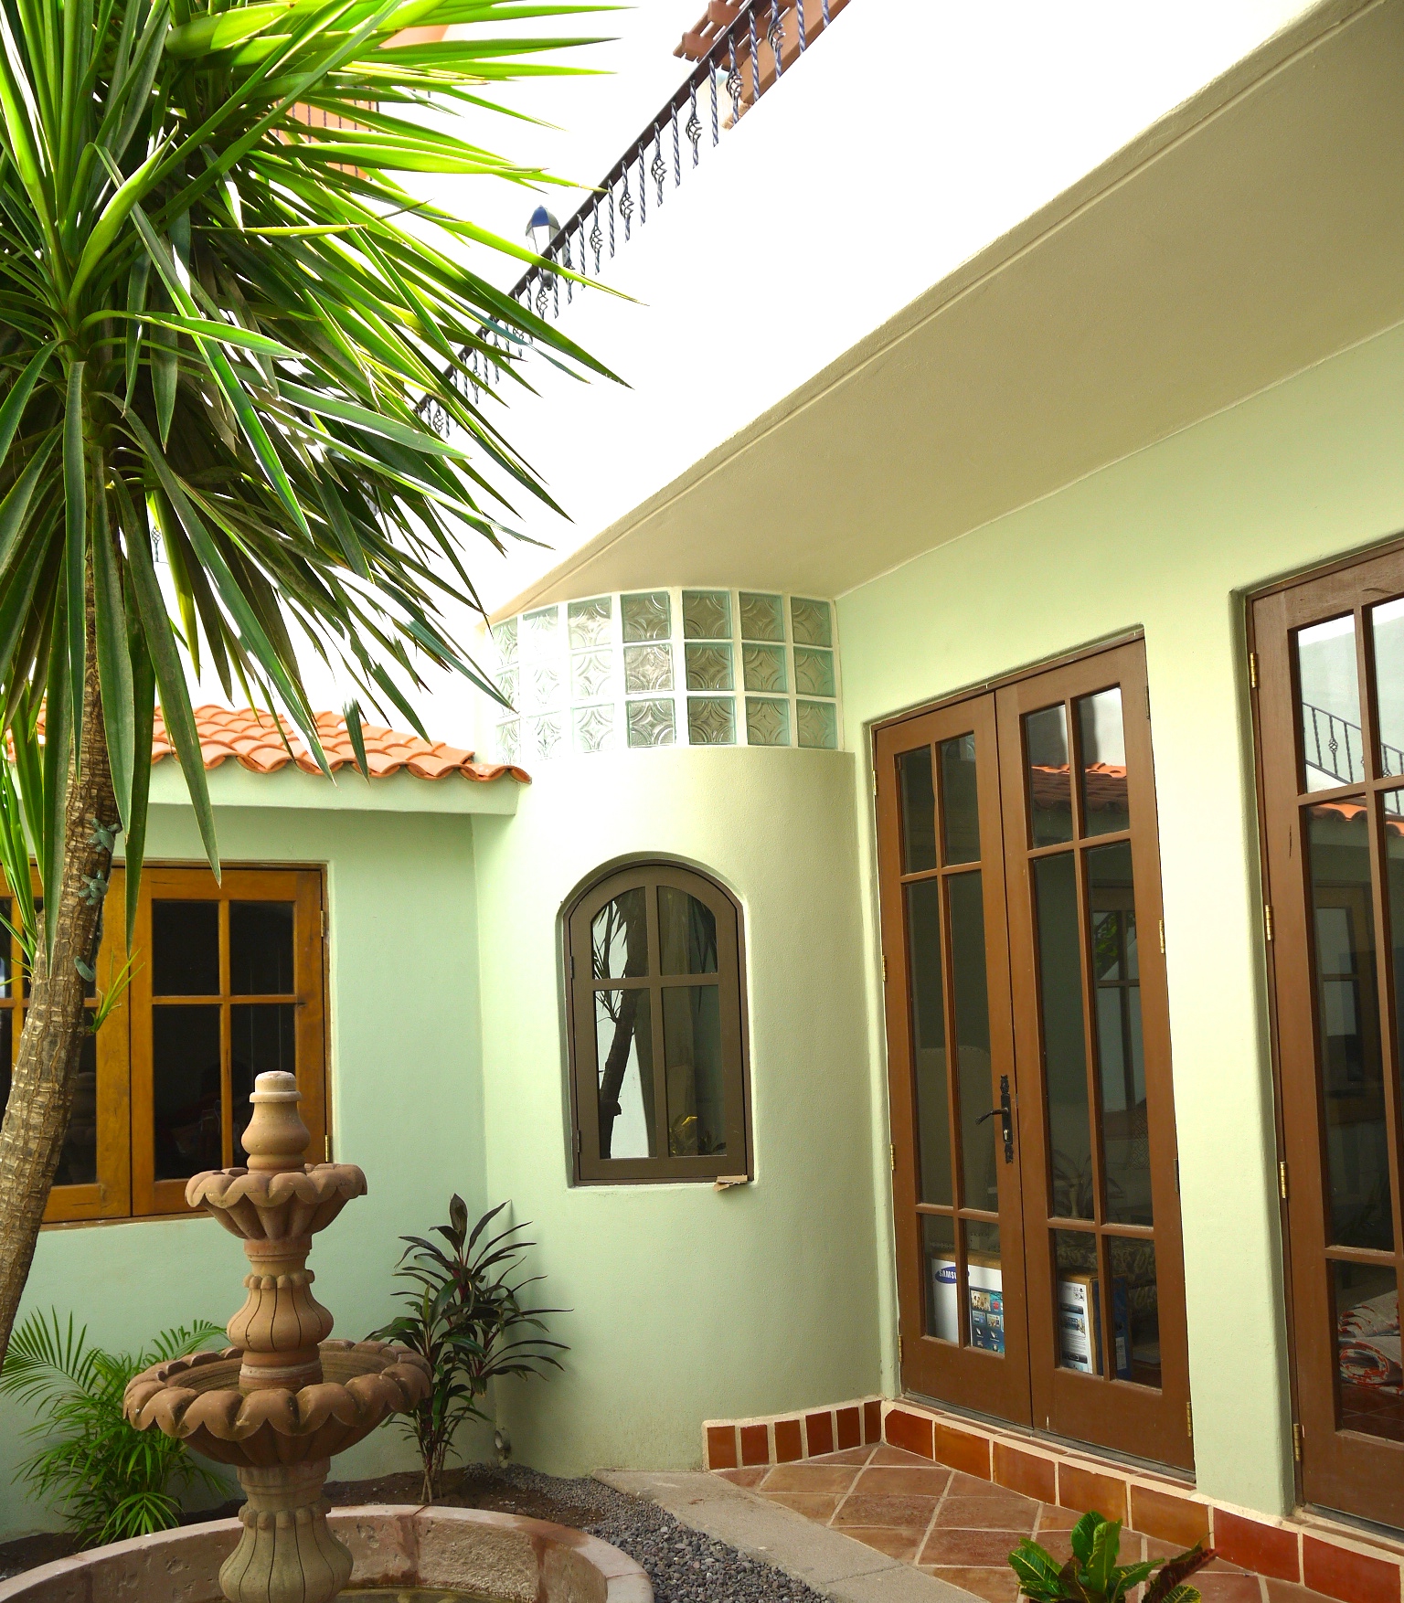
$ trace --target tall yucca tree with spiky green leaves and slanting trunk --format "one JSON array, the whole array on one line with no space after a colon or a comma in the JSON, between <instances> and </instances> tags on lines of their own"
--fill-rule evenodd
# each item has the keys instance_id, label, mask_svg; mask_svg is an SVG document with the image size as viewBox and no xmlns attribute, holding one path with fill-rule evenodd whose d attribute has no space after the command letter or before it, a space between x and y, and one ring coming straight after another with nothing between
<instances>
[{"instance_id":1,"label":"tall yucca tree with spiky green leaves and slanting trunk","mask_svg":"<svg viewBox=\"0 0 1404 1603\"><path fill-rule=\"evenodd\" d=\"M545 497L490 417L521 378L513 353L603 369L465 266L468 247L526 252L404 175L543 181L422 107L487 111L495 85L567 71L531 58L583 40L492 29L591 10L0 0L0 725L16 758L0 773L43 885L0 1129L0 1355L119 832L131 920L154 701L218 872L186 689L202 660L228 694L285 709L321 758L298 672L298 648L317 651L353 686L362 769L362 705L418 728L425 662L476 678L444 622L476 601L465 537L497 545L511 495ZM454 37L397 37L441 26ZM465 349L500 369L481 406L455 383ZM447 438L423 422L434 409Z\"/></svg>"}]
</instances>

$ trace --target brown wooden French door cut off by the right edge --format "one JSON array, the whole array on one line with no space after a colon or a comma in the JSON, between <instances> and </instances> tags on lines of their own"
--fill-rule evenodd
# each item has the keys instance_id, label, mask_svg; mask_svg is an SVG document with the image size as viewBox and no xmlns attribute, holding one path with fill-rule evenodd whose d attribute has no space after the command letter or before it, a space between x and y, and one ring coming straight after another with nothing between
<instances>
[{"instance_id":1,"label":"brown wooden French door cut off by the right edge","mask_svg":"<svg viewBox=\"0 0 1404 1603\"><path fill-rule=\"evenodd\" d=\"M1252 632L1301 1496L1404 1526L1404 551Z\"/></svg>"}]
</instances>

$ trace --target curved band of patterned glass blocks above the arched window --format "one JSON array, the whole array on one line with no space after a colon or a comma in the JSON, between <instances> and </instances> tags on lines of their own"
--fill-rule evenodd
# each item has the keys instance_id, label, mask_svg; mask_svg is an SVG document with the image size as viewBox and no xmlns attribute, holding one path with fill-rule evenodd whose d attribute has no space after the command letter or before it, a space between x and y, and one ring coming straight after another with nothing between
<instances>
[{"instance_id":1,"label":"curved band of patterned glass blocks above the arched window","mask_svg":"<svg viewBox=\"0 0 1404 1603\"><path fill-rule=\"evenodd\" d=\"M838 747L833 608L756 590L639 590L490 632L498 761L649 745Z\"/></svg>"}]
</instances>

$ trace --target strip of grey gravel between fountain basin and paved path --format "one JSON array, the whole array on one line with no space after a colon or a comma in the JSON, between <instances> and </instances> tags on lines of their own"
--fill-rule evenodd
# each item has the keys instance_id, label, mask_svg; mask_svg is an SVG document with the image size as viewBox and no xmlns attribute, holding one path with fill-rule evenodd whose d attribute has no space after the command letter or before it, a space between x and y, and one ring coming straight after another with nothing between
<instances>
[{"instance_id":1,"label":"strip of grey gravel between fountain basin and paved path","mask_svg":"<svg viewBox=\"0 0 1404 1603\"><path fill-rule=\"evenodd\" d=\"M824 1595L803 1581L593 1476L567 1481L516 1464L500 1473L524 1489L603 1513L604 1518L585 1529L643 1565L654 1584L654 1603L825 1603Z\"/></svg>"}]
</instances>

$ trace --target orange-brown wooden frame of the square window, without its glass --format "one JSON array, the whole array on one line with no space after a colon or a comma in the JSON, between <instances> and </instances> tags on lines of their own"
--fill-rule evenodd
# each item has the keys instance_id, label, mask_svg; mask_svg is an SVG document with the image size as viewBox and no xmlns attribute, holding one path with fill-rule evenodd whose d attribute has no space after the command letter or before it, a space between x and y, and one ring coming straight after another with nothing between
<instances>
[{"instance_id":1,"label":"orange-brown wooden frame of the square window, without its glass","mask_svg":"<svg viewBox=\"0 0 1404 1603\"><path fill-rule=\"evenodd\" d=\"M221 882L204 864L147 862L141 875L131 951L136 954L131 983L114 1005L96 1037L96 1180L54 1186L45 1209L45 1225L75 1225L101 1220L183 1218L191 1215L184 1201L184 1180L157 1181L152 1177L152 1064L151 1064L151 965L143 952L151 949L152 898L180 901L220 901L221 930L221 1047L224 1056L224 1162L232 1162L229 1129L228 1069L231 1005L228 984L228 904L231 901L293 901L295 991L279 1000L297 1005L298 1084L303 1092L301 1116L311 1132L309 1157L330 1157L327 1108L327 938L325 877L316 866L226 866ZM34 880L38 894L37 877ZM0 877L0 896L8 896ZM125 870L114 864L107 891L107 915L98 947L98 984L106 989L127 962ZM0 928L0 943L10 943L11 995L0 995L0 1008L22 1016L26 1008L22 959L14 938ZM204 1000L204 999L181 999ZM245 1002L245 997L239 997ZM16 1018L16 1024L19 1018ZM13 1052L19 1050L19 1029L13 1029Z\"/></svg>"}]
</instances>

